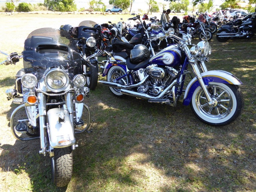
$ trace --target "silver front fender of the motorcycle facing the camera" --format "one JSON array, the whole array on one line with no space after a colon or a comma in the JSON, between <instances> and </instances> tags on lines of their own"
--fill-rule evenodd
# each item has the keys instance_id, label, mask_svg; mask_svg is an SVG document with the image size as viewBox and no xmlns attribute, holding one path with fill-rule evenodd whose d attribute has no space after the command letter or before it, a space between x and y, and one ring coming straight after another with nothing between
<instances>
[{"instance_id":1,"label":"silver front fender of the motorcycle facing the camera","mask_svg":"<svg viewBox=\"0 0 256 192\"><path fill-rule=\"evenodd\" d=\"M59 121L59 113L64 113L64 120ZM47 129L49 142L53 148L74 145L76 140L68 111L63 108L53 108L47 112Z\"/></svg>"}]
</instances>

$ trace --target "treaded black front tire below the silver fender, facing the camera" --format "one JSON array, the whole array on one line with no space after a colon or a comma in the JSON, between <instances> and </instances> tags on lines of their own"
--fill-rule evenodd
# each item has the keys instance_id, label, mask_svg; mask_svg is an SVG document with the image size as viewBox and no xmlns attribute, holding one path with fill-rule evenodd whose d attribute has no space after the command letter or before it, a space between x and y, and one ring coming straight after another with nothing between
<instances>
[{"instance_id":1,"label":"treaded black front tire below the silver fender, facing the camera","mask_svg":"<svg viewBox=\"0 0 256 192\"><path fill-rule=\"evenodd\" d=\"M71 180L73 171L72 146L54 148L51 158L52 180L57 187L65 187Z\"/></svg>"}]
</instances>

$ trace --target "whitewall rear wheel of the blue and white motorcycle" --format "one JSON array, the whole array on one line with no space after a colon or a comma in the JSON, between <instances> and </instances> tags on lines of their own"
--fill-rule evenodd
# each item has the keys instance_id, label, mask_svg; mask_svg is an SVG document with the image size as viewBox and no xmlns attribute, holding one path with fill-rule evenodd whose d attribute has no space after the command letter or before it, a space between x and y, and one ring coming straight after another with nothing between
<instances>
[{"instance_id":1,"label":"whitewall rear wheel of the blue and white motorcycle","mask_svg":"<svg viewBox=\"0 0 256 192\"><path fill-rule=\"evenodd\" d=\"M113 66L109 69L108 74L107 74L107 81L108 82L113 82L113 80L122 77L123 75L125 75L126 72L125 70L120 67L120 66ZM125 76L124 78L120 79L119 82L121 82L120 84L125 85L128 84L129 79L128 76ZM113 87L109 87L110 91L112 92L113 95L115 95L116 97L123 97L124 94L122 94L120 92L120 89L117 88L113 88Z\"/></svg>"}]
</instances>

